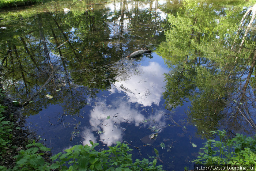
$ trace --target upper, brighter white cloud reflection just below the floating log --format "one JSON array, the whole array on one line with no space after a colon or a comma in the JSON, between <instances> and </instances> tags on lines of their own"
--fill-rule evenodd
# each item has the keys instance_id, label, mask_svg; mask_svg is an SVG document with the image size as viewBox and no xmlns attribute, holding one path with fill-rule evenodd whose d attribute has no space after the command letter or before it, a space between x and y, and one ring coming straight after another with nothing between
<instances>
[{"instance_id":1,"label":"upper, brighter white cloud reflection just below the floating log","mask_svg":"<svg viewBox=\"0 0 256 171\"><path fill-rule=\"evenodd\" d=\"M163 73L167 71L157 62L150 62L141 69L140 75L132 75L127 80L117 78L118 81L114 85L118 91L124 91L129 96L129 102L144 106L151 106L152 103L159 105L165 85Z\"/></svg>"}]
</instances>

